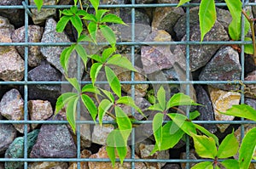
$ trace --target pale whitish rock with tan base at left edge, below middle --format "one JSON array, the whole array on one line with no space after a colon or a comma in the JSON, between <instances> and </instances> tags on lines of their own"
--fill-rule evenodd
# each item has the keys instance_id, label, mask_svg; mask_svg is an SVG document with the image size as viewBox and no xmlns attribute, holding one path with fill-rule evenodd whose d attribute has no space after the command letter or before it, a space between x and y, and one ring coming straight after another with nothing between
<instances>
[{"instance_id":1,"label":"pale whitish rock with tan base at left edge, below middle","mask_svg":"<svg viewBox=\"0 0 256 169\"><path fill-rule=\"evenodd\" d=\"M12 121L24 120L24 101L17 89L11 89L3 95L0 102L1 114ZM21 133L24 132L23 124L14 124L15 129ZM28 127L29 130L29 127Z\"/></svg>"}]
</instances>

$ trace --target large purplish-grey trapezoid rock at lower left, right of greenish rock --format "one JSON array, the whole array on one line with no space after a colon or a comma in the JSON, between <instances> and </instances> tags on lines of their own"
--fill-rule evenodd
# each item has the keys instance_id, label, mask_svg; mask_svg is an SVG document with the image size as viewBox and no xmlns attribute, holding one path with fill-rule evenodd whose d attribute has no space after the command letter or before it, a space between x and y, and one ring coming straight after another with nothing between
<instances>
[{"instance_id":1,"label":"large purplish-grey trapezoid rock at lower left, right of greenish rock","mask_svg":"<svg viewBox=\"0 0 256 169\"><path fill-rule=\"evenodd\" d=\"M60 120L59 115L53 120ZM44 124L40 128L37 143L30 157L72 158L76 156L76 145L67 125Z\"/></svg>"}]
</instances>

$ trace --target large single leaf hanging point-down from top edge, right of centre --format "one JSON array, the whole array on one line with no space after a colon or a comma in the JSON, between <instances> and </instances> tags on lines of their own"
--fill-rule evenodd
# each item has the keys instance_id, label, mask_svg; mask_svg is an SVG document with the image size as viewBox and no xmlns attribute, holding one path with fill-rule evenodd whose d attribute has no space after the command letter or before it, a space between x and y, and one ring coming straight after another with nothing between
<instances>
[{"instance_id":1,"label":"large single leaf hanging point-down from top edge, right of centre","mask_svg":"<svg viewBox=\"0 0 256 169\"><path fill-rule=\"evenodd\" d=\"M201 31L201 42L208 31L212 29L217 19L214 0L201 0L199 8L199 22Z\"/></svg>"}]
</instances>

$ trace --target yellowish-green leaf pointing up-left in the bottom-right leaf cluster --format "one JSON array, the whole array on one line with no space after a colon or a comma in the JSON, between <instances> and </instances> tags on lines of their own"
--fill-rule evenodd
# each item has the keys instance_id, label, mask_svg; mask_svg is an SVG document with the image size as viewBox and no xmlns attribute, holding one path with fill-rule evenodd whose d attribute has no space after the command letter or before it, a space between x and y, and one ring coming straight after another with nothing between
<instances>
[{"instance_id":1,"label":"yellowish-green leaf pointing up-left in the bottom-right leaf cluster","mask_svg":"<svg viewBox=\"0 0 256 169\"><path fill-rule=\"evenodd\" d=\"M195 152L203 157L215 159L217 155L217 147L213 138L207 136L199 136L194 133L191 134L195 144Z\"/></svg>"}]
</instances>

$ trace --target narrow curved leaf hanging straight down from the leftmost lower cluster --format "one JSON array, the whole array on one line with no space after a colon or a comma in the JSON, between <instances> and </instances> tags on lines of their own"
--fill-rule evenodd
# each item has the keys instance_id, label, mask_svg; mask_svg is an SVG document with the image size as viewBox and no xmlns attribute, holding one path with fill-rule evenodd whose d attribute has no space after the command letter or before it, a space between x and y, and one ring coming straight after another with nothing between
<instances>
[{"instance_id":1,"label":"narrow curved leaf hanging straight down from the leftmost lower cluster","mask_svg":"<svg viewBox=\"0 0 256 169\"><path fill-rule=\"evenodd\" d=\"M73 132L76 131L76 112L77 112L77 104L78 104L79 97L70 99L67 103L67 121L69 125L71 126Z\"/></svg>"}]
</instances>

